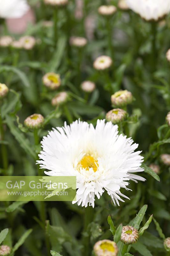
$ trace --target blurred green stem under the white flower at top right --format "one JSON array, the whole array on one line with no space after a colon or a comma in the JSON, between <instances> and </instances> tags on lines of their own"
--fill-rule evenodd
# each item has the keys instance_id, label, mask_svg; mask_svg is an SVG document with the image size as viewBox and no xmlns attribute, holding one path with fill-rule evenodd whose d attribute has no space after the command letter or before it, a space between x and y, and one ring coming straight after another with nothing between
<instances>
[{"instance_id":1,"label":"blurred green stem under the white flower at top right","mask_svg":"<svg viewBox=\"0 0 170 256\"><path fill-rule=\"evenodd\" d=\"M157 49L156 49L156 40L157 40L157 23L152 22L152 71L156 71L157 67Z\"/></svg>"}]
</instances>

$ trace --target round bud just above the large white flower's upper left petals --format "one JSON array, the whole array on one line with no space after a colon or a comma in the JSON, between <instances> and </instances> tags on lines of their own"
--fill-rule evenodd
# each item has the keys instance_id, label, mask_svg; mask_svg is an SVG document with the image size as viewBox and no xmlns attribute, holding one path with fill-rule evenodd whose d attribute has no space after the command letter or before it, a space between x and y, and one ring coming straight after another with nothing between
<instances>
[{"instance_id":1,"label":"round bud just above the large white flower's upper left petals","mask_svg":"<svg viewBox=\"0 0 170 256\"><path fill-rule=\"evenodd\" d=\"M33 114L28 116L24 124L29 129L38 129L41 128L44 123L44 117L41 114Z\"/></svg>"}]
</instances>

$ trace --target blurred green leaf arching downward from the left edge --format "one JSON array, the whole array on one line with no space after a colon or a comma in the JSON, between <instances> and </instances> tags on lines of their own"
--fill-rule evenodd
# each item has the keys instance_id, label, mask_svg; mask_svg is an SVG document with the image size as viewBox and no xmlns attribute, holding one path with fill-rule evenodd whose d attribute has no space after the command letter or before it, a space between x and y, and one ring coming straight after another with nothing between
<instances>
[{"instance_id":1,"label":"blurred green leaf arching downward from the left edge","mask_svg":"<svg viewBox=\"0 0 170 256\"><path fill-rule=\"evenodd\" d=\"M1 66L0 73L4 71L7 71L7 72L11 71L15 73L26 87L30 86L30 83L28 78L26 77L26 74L23 71L19 70L18 68L11 67L11 66Z\"/></svg>"}]
</instances>

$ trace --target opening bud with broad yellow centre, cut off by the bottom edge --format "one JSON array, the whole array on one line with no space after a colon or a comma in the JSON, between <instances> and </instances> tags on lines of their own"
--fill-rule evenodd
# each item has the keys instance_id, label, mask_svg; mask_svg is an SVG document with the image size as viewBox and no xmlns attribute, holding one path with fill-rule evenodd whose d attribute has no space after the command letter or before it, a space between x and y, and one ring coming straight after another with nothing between
<instances>
[{"instance_id":1,"label":"opening bud with broad yellow centre, cut off by the bottom edge","mask_svg":"<svg viewBox=\"0 0 170 256\"><path fill-rule=\"evenodd\" d=\"M98 241L93 247L95 256L117 256L118 248L115 242L104 239Z\"/></svg>"}]
</instances>

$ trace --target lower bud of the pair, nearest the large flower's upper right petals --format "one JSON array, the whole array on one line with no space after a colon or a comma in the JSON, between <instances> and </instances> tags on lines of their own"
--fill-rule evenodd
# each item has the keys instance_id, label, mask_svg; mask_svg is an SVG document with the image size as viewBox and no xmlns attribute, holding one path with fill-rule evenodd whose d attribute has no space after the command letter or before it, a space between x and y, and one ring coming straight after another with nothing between
<instances>
[{"instance_id":1,"label":"lower bud of the pair, nearest the large flower's upper right petals","mask_svg":"<svg viewBox=\"0 0 170 256\"><path fill-rule=\"evenodd\" d=\"M113 124L118 124L125 120L127 112L120 108L115 108L107 112L106 120L111 121Z\"/></svg>"}]
</instances>

